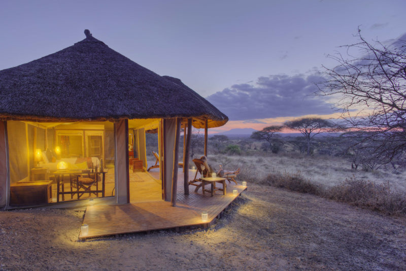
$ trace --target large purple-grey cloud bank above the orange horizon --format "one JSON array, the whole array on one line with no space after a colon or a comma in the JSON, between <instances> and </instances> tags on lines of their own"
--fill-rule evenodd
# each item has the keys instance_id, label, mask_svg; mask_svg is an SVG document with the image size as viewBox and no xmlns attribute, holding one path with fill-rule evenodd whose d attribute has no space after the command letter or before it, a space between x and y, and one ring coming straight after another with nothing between
<instances>
[{"instance_id":1,"label":"large purple-grey cloud bank above the orange horizon","mask_svg":"<svg viewBox=\"0 0 406 271\"><path fill-rule=\"evenodd\" d=\"M272 75L259 77L255 84L236 84L207 99L230 120L253 120L310 114L331 114L333 105L313 96L319 75Z\"/></svg>"}]
</instances>

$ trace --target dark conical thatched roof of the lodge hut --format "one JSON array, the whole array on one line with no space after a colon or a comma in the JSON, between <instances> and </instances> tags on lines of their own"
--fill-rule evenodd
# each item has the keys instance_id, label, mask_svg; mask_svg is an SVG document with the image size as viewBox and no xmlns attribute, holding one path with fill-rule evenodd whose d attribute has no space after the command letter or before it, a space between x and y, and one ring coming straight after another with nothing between
<instances>
[{"instance_id":1,"label":"dark conical thatched roof of the lodge hut","mask_svg":"<svg viewBox=\"0 0 406 271\"><path fill-rule=\"evenodd\" d=\"M135 118L228 118L179 79L162 77L86 39L26 64L0 71L0 118L74 121ZM200 126L197 122L195 126Z\"/></svg>"}]
</instances>

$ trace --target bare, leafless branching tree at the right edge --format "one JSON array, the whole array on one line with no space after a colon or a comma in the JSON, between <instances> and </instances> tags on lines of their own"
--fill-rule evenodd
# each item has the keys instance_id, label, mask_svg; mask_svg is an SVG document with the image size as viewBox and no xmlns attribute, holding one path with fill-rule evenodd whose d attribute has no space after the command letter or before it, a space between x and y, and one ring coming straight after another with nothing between
<instances>
[{"instance_id":1,"label":"bare, leafless branching tree at the right edge","mask_svg":"<svg viewBox=\"0 0 406 271\"><path fill-rule=\"evenodd\" d=\"M356 37L357 43L341 46L346 55L329 56L339 64L323 66L327 80L317 84L318 94L338 97L347 126L360 131L357 144L373 142L366 144L374 146L371 159L389 162L406 150L406 41L368 42L360 29Z\"/></svg>"}]
</instances>

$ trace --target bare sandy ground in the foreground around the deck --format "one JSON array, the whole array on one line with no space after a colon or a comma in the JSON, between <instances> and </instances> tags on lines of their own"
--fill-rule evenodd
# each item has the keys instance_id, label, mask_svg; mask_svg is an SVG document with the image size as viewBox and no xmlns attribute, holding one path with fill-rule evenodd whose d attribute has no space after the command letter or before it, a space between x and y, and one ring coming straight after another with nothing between
<instances>
[{"instance_id":1,"label":"bare sandy ground in the foreground around the deck","mask_svg":"<svg viewBox=\"0 0 406 271\"><path fill-rule=\"evenodd\" d=\"M79 242L81 210L0 212L0 270L405 270L406 219L250 185L208 229Z\"/></svg>"}]
</instances>

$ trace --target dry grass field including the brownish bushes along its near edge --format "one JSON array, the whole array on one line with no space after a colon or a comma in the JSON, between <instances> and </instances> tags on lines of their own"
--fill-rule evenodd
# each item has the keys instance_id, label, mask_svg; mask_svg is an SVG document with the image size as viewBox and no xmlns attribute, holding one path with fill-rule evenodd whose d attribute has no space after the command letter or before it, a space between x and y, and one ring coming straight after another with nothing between
<instances>
[{"instance_id":1,"label":"dry grass field including the brownish bushes along its near edge","mask_svg":"<svg viewBox=\"0 0 406 271\"><path fill-rule=\"evenodd\" d=\"M209 157L224 161L224 157ZM231 156L227 169L240 167L240 180L348 202L388 215L406 214L405 172L351 170L336 157L296 155Z\"/></svg>"}]
</instances>

